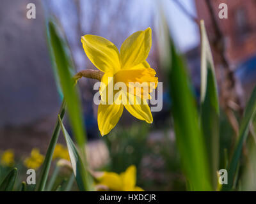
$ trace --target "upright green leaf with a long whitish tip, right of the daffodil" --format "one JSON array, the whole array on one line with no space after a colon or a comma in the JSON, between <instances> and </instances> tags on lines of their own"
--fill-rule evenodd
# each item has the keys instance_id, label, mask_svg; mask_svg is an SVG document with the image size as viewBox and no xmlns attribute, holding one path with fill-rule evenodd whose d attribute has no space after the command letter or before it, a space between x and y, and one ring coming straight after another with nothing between
<instances>
[{"instance_id":1,"label":"upright green leaf with a long whitish tip, right of the daffodil","mask_svg":"<svg viewBox=\"0 0 256 204\"><path fill-rule=\"evenodd\" d=\"M220 107L218 90L214 73L211 48L204 20L200 22L201 33L201 93L200 93L200 124L207 147L212 186L217 187L217 171L219 166L219 124Z\"/></svg>"}]
</instances>

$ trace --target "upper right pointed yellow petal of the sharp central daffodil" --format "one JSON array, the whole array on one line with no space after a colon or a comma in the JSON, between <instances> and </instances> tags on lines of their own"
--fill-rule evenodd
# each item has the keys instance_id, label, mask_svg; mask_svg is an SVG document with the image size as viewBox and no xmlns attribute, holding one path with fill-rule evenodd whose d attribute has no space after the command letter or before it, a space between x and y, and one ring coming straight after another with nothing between
<instances>
[{"instance_id":1,"label":"upper right pointed yellow petal of the sharp central daffodil","mask_svg":"<svg viewBox=\"0 0 256 204\"><path fill-rule=\"evenodd\" d=\"M144 63L151 48L151 29L138 31L129 36L121 46L122 69L131 69Z\"/></svg>"}]
</instances>

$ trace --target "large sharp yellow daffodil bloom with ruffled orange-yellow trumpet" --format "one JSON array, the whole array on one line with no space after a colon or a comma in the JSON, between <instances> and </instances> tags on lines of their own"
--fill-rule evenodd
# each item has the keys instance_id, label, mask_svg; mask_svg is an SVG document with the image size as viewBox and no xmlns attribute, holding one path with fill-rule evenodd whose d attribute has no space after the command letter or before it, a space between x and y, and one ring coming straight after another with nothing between
<instances>
[{"instance_id":1,"label":"large sharp yellow daffodil bloom with ruffled orange-yellow trumpet","mask_svg":"<svg viewBox=\"0 0 256 204\"><path fill-rule=\"evenodd\" d=\"M83 48L92 63L104 73L101 78L100 96L101 101L98 108L98 126L102 136L113 129L120 119L124 107L129 113L140 120L148 123L153 122L152 114L147 103L149 94L143 91L131 92L129 89L114 89L109 87L122 82L127 87L131 83L148 85L148 93L156 89L158 79L155 77L156 71L150 68L146 61L151 48L151 29L138 31L129 36L120 48L120 52L111 41L100 36L86 34L82 37ZM109 80L111 78L111 80ZM132 87L136 89L136 85ZM141 87L142 89L142 87ZM117 96L115 99L109 98L111 95ZM114 103L111 103L114 100ZM141 103L141 100L143 101Z\"/></svg>"}]
</instances>

